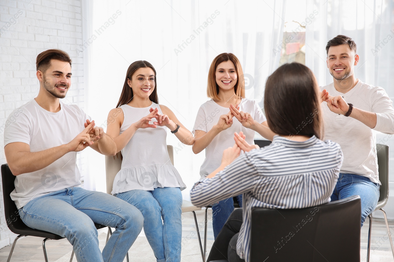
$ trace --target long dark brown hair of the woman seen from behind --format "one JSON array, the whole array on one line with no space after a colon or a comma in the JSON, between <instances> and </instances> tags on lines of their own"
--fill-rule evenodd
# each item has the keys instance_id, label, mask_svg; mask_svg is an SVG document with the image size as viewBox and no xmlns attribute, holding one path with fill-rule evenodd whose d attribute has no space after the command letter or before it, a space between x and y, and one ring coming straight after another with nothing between
<instances>
[{"instance_id":1,"label":"long dark brown hair of the woman seen from behind","mask_svg":"<svg viewBox=\"0 0 394 262\"><path fill-rule=\"evenodd\" d=\"M284 64L267 79L264 109L268 126L276 134L323 139L320 104L316 78L303 64Z\"/></svg>"}]
</instances>

